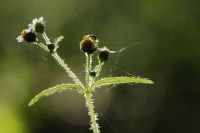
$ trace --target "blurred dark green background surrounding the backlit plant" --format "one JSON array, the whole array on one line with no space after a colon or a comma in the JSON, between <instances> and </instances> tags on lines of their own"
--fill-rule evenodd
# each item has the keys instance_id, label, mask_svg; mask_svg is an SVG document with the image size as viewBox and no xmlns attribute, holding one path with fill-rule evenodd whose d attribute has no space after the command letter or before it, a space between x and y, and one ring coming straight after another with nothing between
<instances>
[{"instance_id":1,"label":"blurred dark green background surrounding the backlit plant","mask_svg":"<svg viewBox=\"0 0 200 133\"><path fill-rule=\"evenodd\" d=\"M113 54L101 76L138 75L154 85L119 85L95 93L102 133L200 132L199 0L0 0L0 133L88 133L82 95L29 100L71 82L42 50L16 37L44 16L47 34L64 35L59 54L84 77L79 41L95 34Z\"/></svg>"}]
</instances>

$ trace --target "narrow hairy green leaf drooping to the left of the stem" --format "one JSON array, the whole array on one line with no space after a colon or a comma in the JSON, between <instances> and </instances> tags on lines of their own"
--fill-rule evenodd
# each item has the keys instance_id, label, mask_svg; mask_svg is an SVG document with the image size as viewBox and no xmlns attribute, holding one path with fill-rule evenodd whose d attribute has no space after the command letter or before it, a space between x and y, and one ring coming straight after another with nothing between
<instances>
[{"instance_id":1,"label":"narrow hairy green leaf drooping to the left of the stem","mask_svg":"<svg viewBox=\"0 0 200 133\"><path fill-rule=\"evenodd\" d=\"M56 92L61 92L61 91L67 90L67 89L78 89L78 88L81 88L81 87L77 84L61 84L61 85L51 87L49 89L42 91L41 93L36 95L33 99L31 99L28 106L30 107L33 104L35 104L38 100L40 100L41 98L43 98L45 96L53 95Z\"/></svg>"}]
</instances>

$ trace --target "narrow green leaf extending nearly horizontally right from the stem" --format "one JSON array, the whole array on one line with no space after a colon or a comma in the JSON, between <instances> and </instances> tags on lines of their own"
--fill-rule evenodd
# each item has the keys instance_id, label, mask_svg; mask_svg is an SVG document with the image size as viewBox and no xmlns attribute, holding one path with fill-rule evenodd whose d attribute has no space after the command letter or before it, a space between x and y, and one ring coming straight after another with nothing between
<instances>
[{"instance_id":1,"label":"narrow green leaf extending nearly horizontally right from the stem","mask_svg":"<svg viewBox=\"0 0 200 133\"><path fill-rule=\"evenodd\" d=\"M125 84L125 83L153 84L154 82L151 81L150 79L141 77L109 77L96 81L93 87L96 88L104 85L115 85L115 84Z\"/></svg>"}]
</instances>

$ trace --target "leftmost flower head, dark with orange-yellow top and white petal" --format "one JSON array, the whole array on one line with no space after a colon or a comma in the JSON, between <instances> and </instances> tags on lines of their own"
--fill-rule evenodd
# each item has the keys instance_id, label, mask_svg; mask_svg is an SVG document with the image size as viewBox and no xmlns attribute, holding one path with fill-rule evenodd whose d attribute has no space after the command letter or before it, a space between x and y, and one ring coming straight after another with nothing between
<instances>
[{"instance_id":1,"label":"leftmost flower head, dark with orange-yellow top and white petal","mask_svg":"<svg viewBox=\"0 0 200 133\"><path fill-rule=\"evenodd\" d=\"M31 29L24 29L21 32L21 35L16 38L18 42L36 42L37 36Z\"/></svg>"}]
</instances>

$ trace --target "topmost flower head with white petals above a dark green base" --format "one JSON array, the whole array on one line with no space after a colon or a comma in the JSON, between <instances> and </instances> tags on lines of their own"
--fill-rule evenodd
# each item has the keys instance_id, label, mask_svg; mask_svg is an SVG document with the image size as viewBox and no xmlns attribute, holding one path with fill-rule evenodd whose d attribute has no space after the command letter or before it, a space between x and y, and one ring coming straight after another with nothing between
<instances>
[{"instance_id":1,"label":"topmost flower head with white petals above a dark green base","mask_svg":"<svg viewBox=\"0 0 200 133\"><path fill-rule=\"evenodd\" d=\"M29 28L37 33L43 33L45 30L45 21L43 17L34 18L32 23L29 24Z\"/></svg>"}]
</instances>

